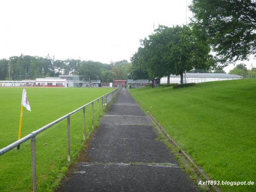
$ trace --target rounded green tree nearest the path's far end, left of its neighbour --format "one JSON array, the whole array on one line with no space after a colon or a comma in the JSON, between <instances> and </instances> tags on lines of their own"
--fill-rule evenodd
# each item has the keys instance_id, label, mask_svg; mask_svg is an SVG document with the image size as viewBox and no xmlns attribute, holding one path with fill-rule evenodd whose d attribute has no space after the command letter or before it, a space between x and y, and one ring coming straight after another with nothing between
<instances>
[{"instance_id":1,"label":"rounded green tree nearest the path's far end, left of its neighbour","mask_svg":"<svg viewBox=\"0 0 256 192\"><path fill-rule=\"evenodd\" d=\"M137 77L136 79L144 76L145 72L150 79L168 76L169 83L174 67L168 50L171 41L172 28L166 26L159 26L154 34L140 40L141 46L131 58L133 62L131 75Z\"/></svg>"}]
</instances>

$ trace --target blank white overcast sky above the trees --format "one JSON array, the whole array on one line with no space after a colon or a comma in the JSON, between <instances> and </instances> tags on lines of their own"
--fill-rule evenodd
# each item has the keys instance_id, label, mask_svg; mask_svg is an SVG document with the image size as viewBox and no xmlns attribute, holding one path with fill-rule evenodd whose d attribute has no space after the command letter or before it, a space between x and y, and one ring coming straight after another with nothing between
<instances>
[{"instance_id":1,"label":"blank white overcast sky above the trees","mask_svg":"<svg viewBox=\"0 0 256 192\"><path fill-rule=\"evenodd\" d=\"M188 22L191 16L187 9ZM186 0L0 1L0 58L49 53L63 60L130 61L153 26L185 23Z\"/></svg>"}]
</instances>

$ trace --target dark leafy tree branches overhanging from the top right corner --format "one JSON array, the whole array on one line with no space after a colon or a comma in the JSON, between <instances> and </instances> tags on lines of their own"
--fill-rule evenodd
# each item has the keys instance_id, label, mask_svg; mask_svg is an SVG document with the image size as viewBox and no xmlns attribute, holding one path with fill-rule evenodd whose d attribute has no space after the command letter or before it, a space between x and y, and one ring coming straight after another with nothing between
<instances>
[{"instance_id":1,"label":"dark leafy tree branches overhanging from the top right corner","mask_svg":"<svg viewBox=\"0 0 256 192\"><path fill-rule=\"evenodd\" d=\"M189 8L224 65L256 54L256 0L192 0Z\"/></svg>"}]
</instances>

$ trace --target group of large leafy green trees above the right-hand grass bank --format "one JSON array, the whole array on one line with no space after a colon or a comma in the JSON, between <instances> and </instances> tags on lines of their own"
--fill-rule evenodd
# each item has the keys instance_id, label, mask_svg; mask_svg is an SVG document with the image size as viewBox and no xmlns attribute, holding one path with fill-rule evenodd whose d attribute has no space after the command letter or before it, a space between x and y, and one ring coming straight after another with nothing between
<instances>
[{"instance_id":1,"label":"group of large leafy green trees above the right-hand grass bank","mask_svg":"<svg viewBox=\"0 0 256 192\"><path fill-rule=\"evenodd\" d=\"M256 0L192 0L188 26L159 26L131 58L133 79L219 71L256 55ZM210 53L214 52L214 56Z\"/></svg>"}]
</instances>

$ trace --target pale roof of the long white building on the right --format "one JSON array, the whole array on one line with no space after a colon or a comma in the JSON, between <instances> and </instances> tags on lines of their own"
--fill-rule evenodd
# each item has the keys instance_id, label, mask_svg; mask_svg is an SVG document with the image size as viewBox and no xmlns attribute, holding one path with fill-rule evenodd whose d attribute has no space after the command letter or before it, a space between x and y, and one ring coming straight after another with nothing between
<instances>
[{"instance_id":1,"label":"pale roof of the long white building on the right","mask_svg":"<svg viewBox=\"0 0 256 192\"><path fill-rule=\"evenodd\" d=\"M185 74L183 73L183 77ZM180 77L180 75L170 75L170 77ZM227 73L186 73L186 77L217 77L217 78L243 78L239 75L232 75Z\"/></svg>"}]
</instances>

